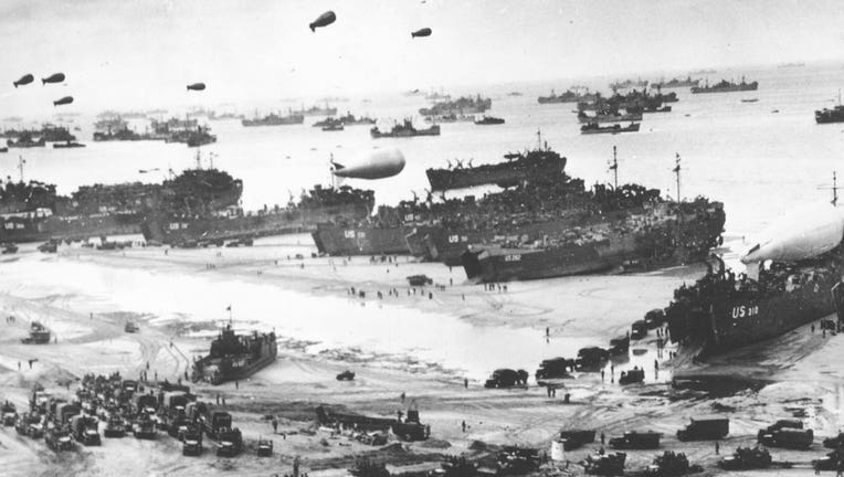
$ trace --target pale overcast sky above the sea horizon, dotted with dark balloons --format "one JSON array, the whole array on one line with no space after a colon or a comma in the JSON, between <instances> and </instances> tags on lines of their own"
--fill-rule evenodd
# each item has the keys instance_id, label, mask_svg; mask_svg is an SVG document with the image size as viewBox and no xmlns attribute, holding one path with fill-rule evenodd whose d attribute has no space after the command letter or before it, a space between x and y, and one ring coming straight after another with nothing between
<instances>
[{"instance_id":1,"label":"pale overcast sky above the sea horizon, dotted with dark balloons","mask_svg":"<svg viewBox=\"0 0 844 477\"><path fill-rule=\"evenodd\" d=\"M327 10L336 23L310 32ZM842 46L840 0L2 0L0 117L64 95L91 112L187 104L194 82L242 104L844 61ZM42 87L54 72L66 83ZM25 73L39 84L15 91Z\"/></svg>"}]
</instances>

